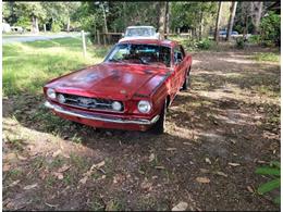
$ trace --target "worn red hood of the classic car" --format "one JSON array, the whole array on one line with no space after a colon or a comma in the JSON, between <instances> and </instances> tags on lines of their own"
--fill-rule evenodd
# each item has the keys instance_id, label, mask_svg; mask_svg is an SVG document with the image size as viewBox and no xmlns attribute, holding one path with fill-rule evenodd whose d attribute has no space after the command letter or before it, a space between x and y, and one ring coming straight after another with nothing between
<instances>
[{"instance_id":1,"label":"worn red hood of the classic car","mask_svg":"<svg viewBox=\"0 0 283 212\"><path fill-rule=\"evenodd\" d=\"M149 96L170 70L144 64L101 63L51 80L58 92L116 100Z\"/></svg>"}]
</instances>

